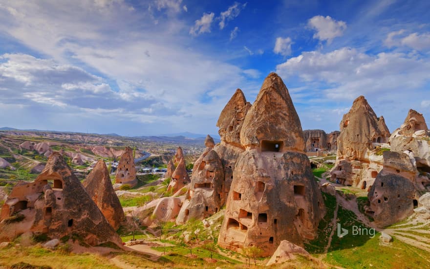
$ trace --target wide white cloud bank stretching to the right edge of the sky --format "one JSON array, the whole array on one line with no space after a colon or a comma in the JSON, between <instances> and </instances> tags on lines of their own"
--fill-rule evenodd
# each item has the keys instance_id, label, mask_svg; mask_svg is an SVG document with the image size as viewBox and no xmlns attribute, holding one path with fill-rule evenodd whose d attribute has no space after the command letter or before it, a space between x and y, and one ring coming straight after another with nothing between
<instances>
[{"instance_id":1,"label":"wide white cloud bank stretching to the right edge of the sky","mask_svg":"<svg viewBox=\"0 0 430 269\"><path fill-rule=\"evenodd\" d=\"M285 78L325 85L327 98L351 100L366 93L392 97L398 89L407 96L408 90L419 90L430 80L429 68L428 61L404 53L368 55L344 47L325 54L302 52L276 69Z\"/></svg>"}]
</instances>

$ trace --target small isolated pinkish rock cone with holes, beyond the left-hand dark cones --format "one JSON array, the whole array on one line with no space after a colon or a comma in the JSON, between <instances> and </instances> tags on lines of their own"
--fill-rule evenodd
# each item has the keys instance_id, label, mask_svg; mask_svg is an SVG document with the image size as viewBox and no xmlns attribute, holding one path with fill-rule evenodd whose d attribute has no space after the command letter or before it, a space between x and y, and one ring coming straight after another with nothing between
<instances>
[{"instance_id":1,"label":"small isolated pinkish rock cone with holes, beyond the left-hand dark cones","mask_svg":"<svg viewBox=\"0 0 430 269\"><path fill-rule=\"evenodd\" d=\"M115 183L129 184L131 187L137 184L133 150L129 147L126 148L126 152L121 155L121 159L119 160Z\"/></svg>"}]
</instances>

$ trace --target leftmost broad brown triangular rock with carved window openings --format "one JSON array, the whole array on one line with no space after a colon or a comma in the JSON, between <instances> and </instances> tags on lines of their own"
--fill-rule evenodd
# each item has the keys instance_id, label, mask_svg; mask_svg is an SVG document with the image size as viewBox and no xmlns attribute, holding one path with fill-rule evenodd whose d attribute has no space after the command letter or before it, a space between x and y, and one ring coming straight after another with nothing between
<instances>
[{"instance_id":1,"label":"leftmost broad brown triangular rock with carved window openings","mask_svg":"<svg viewBox=\"0 0 430 269\"><path fill-rule=\"evenodd\" d=\"M58 152L35 181L21 181L12 189L1 210L1 220L11 218L19 221L1 223L0 241L31 231L57 239L78 234L91 246L121 242Z\"/></svg>"}]
</instances>

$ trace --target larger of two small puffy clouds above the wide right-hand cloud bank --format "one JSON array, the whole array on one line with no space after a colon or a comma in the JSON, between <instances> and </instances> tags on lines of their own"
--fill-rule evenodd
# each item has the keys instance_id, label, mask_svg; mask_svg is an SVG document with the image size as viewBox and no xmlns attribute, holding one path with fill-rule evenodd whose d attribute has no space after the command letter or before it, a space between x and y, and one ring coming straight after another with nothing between
<instances>
[{"instance_id":1,"label":"larger of two small puffy clouds above the wide right-hand cloud bank","mask_svg":"<svg viewBox=\"0 0 430 269\"><path fill-rule=\"evenodd\" d=\"M346 29L346 23L343 21L336 21L330 16L315 16L309 19L308 25L310 28L316 30L314 34L314 39L319 39L321 41L327 41L331 43L334 38L343 35Z\"/></svg>"}]
</instances>

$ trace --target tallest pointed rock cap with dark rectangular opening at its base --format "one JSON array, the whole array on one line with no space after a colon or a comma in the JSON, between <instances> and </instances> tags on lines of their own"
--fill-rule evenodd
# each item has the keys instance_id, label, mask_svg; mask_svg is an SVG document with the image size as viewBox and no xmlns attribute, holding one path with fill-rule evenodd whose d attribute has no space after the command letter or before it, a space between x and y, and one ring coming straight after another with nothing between
<instances>
[{"instance_id":1,"label":"tallest pointed rock cap with dark rectangular opening at its base","mask_svg":"<svg viewBox=\"0 0 430 269\"><path fill-rule=\"evenodd\" d=\"M299 115L287 87L276 73L270 73L264 80L246 114L240 142L247 149L304 152Z\"/></svg>"}]
</instances>

